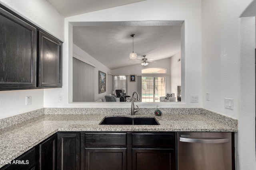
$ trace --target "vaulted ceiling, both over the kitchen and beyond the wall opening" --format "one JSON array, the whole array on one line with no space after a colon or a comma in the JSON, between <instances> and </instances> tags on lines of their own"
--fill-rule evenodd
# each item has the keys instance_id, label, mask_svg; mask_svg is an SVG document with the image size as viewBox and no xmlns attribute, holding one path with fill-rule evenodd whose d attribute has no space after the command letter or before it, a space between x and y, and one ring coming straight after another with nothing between
<instances>
[{"instance_id":1,"label":"vaulted ceiling, both over the kitchen and beyond the wall opening","mask_svg":"<svg viewBox=\"0 0 256 170\"><path fill-rule=\"evenodd\" d=\"M96 10L122 6L144 0L47 0L64 17L84 14ZM180 22L181 23L181 22ZM181 24L148 25L105 22L73 27L73 43L103 63L111 70L140 62L129 59L134 52L141 60L143 55L154 61L172 57L180 52ZM139 61L136 60L136 61Z\"/></svg>"}]
</instances>

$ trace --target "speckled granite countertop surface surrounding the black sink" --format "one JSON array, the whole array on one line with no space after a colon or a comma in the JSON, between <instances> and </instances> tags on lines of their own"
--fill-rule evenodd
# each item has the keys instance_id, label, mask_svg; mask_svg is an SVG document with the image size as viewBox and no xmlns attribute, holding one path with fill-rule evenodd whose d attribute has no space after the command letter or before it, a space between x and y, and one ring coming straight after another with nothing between
<instances>
[{"instance_id":1,"label":"speckled granite countertop surface surrounding the black sink","mask_svg":"<svg viewBox=\"0 0 256 170\"><path fill-rule=\"evenodd\" d=\"M152 113L152 112L151 112ZM13 160L58 131L197 131L236 132L237 121L221 115L200 114L47 114L0 129L0 161ZM104 117L155 117L160 125L99 125ZM222 117L221 119L219 117ZM4 164L0 164L0 167Z\"/></svg>"}]
</instances>

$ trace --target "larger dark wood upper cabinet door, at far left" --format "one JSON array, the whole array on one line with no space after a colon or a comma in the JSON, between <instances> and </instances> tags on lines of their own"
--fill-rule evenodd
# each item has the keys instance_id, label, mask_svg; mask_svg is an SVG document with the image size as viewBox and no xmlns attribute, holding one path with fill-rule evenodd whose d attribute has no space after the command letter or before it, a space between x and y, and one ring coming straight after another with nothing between
<instances>
[{"instance_id":1,"label":"larger dark wood upper cabinet door, at far left","mask_svg":"<svg viewBox=\"0 0 256 170\"><path fill-rule=\"evenodd\" d=\"M36 87L36 28L0 8L0 90Z\"/></svg>"}]
</instances>

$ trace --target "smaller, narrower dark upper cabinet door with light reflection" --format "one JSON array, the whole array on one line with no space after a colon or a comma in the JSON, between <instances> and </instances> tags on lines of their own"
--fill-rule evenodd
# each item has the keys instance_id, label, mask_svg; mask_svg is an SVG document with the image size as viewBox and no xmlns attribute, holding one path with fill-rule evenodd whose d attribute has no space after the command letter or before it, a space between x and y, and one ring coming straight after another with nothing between
<instances>
[{"instance_id":1,"label":"smaller, narrower dark upper cabinet door with light reflection","mask_svg":"<svg viewBox=\"0 0 256 170\"><path fill-rule=\"evenodd\" d=\"M39 39L39 86L62 87L62 43L42 31L39 31Z\"/></svg>"}]
</instances>

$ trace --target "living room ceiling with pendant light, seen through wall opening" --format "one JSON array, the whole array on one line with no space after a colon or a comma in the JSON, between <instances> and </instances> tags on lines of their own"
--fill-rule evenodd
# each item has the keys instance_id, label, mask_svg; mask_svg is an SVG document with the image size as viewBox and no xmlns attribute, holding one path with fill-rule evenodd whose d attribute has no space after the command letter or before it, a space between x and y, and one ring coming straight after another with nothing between
<instances>
[{"instance_id":1,"label":"living room ceiling with pendant light, seen through wall opening","mask_svg":"<svg viewBox=\"0 0 256 170\"><path fill-rule=\"evenodd\" d=\"M180 25L74 26L73 43L113 70L140 64L129 59L132 52L130 35L135 34L134 52L138 59L146 55L157 61L180 52L180 29Z\"/></svg>"}]
</instances>

